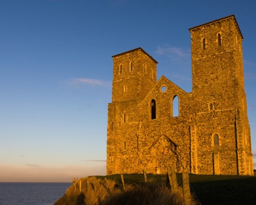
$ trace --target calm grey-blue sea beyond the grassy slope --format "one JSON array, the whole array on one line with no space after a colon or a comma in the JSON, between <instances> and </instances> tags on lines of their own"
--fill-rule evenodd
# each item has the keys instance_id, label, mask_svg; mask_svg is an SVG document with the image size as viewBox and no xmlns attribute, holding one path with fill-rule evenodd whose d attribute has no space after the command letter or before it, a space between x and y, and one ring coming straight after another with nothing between
<instances>
[{"instance_id":1,"label":"calm grey-blue sea beyond the grassy slope","mask_svg":"<svg viewBox=\"0 0 256 205\"><path fill-rule=\"evenodd\" d=\"M0 205L50 205L71 183L0 183Z\"/></svg>"}]
</instances>

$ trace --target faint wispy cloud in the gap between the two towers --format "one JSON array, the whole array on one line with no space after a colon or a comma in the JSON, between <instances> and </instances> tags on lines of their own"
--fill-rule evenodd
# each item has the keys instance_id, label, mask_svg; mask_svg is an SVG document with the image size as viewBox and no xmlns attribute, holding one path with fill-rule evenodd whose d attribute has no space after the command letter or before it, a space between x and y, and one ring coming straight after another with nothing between
<instances>
[{"instance_id":1,"label":"faint wispy cloud in the gap between the two towers","mask_svg":"<svg viewBox=\"0 0 256 205\"><path fill-rule=\"evenodd\" d=\"M165 45L162 47L158 46L155 53L159 56L167 56L171 60L187 60L190 56L189 52L189 50L181 49L179 47L171 47L169 45Z\"/></svg>"}]
</instances>

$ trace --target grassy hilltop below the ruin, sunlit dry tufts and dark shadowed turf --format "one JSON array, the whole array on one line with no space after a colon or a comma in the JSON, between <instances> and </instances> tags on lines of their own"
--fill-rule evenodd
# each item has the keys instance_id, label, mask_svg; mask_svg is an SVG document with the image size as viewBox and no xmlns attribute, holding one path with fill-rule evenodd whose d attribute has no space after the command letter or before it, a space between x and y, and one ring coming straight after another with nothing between
<instances>
[{"instance_id":1,"label":"grassy hilltop below the ruin, sunlit dry tufts and dark shadowed turf","mask_svg":"<svg viewBox=\"0 0 256 205\"><path fill-rule=\"evenodd\" d=\"M183 203L182 190L170 192L167 175L147 177L149 182L145 183L142 174L124 175L125 190L120 175L80 179L82 193L78 182L55 205ZM177 180L181 184L181 174L177 174ZM189 183L194 195L192 204L255 204L256 201L256 176L189 175Z\"/></svg>"}]
</instances>

